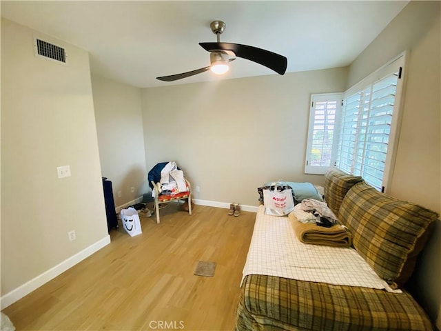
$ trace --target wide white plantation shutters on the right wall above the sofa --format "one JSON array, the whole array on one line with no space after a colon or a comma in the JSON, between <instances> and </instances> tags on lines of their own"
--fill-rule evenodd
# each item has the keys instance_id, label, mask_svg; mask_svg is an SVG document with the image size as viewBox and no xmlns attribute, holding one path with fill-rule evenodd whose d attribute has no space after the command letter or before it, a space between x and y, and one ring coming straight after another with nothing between
<instances>
[{"instance_id":1,"label":"wide white plantation shutters on the right wall above the sofa","mask_svg":"<svg viewBox=\"0 0 441 331\"><path fill-rule=\"evenodd\" d=\"M343 99L336 166L381 191L395 156L402 68L404 56L345 92Z\"/></svg>"}]
</instances>

